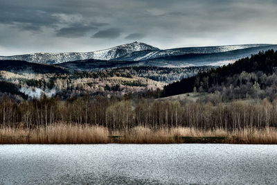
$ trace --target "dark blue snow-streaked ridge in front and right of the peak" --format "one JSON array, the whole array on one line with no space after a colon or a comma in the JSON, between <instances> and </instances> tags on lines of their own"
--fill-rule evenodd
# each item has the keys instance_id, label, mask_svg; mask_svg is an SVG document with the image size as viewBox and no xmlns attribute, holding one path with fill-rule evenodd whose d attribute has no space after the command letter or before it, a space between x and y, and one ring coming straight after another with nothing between
<instances>
[{"instance_id":1,"label":"dark blue snow-streaked ridge in front and right of the peak","mask_svg":"<svg viewBox=\"0 0 277 185\"><path fill-rule=\"evenodd\" d=\"M253 47L251 47L253 46ZM235 49L235 50L231 50ZM193 66L222 66L249 57L260 51L274 49L277 51L277 45L255 44L242 46L215 46L189 49L171 49L175 53L169 55L166 51L137 51L132 55L125 55L123 58L114 60L78 60L73 62L64 62L57 66L64 67L70 71L99 71L102 69L111 69L116 67L193 67ZM179 51L179 52L177 52ZM214 52L213 52L214 51ZM194 52L194 53L190 53ZM150 56L150 53L158 55ZM180 55L180 53L185 53ZM143 60L136 60L139 56L145 55ZM125 58L125 60L123 60Z\"/></svg>"}]
</instances>

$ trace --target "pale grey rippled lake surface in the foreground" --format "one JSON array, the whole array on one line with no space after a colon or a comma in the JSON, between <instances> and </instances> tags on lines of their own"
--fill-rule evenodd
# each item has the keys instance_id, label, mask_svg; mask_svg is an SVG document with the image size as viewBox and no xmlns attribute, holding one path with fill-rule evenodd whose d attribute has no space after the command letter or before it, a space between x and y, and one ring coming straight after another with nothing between
<instances>
[{"instance_id":1,"label":"pale grey rippled lake surface in the foreground","mask_svg":"<svg viewBox=\"0 0 277 185\"><path fill-rule=\"evenodd\" d=\"M277 146L0 146L0 184L277 184Z\"/></svg>"}]
</instances>

